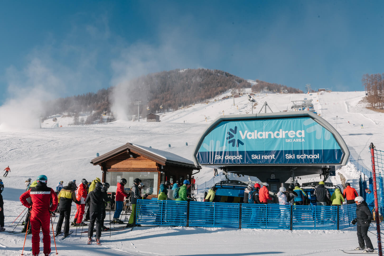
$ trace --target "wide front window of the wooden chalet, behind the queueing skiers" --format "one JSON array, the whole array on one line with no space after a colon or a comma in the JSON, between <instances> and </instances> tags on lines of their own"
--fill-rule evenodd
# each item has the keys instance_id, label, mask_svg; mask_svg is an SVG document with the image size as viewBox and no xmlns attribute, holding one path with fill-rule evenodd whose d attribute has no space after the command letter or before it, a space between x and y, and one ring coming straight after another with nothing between
<instances>
[{"instance_id":1,"label":"wide front window of the wooden chalet, behind the queueing skiers","mask_svg":"<svg viewBox=\"0 0 384 256\"><path fill-rule=\"evenodd\" d=\"M116 192L117 183L120 182L122 178L127 180L124 188L131 188L133 180L139 178L141 179L141 183L144 184L144 189L141 190L143 194L157 195L158 175L158 172L107 172L105 179L110 185L108 189L109 192Z\"/></svg>"}]
</instances>

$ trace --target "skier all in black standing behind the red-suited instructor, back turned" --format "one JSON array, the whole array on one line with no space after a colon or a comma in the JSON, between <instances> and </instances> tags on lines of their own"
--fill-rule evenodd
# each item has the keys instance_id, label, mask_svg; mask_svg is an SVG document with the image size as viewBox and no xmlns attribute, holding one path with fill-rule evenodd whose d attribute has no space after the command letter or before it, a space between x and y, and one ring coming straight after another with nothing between
<instances>
[{"instance_id":1,"label":"skier all in black standing behind the red-suited instructor, back turned","mask_svg":"<svg viewBox=\"0 0 384 256\"><path fill-rule=\"evenodd\" d=\"M103 216L103 205L105 205L108 197L106 193L101 192L103 184L96 183L95 189L89 192L85 203L89 203L89 226L88 226L88 242L91 241L93 236L93 226L96 221L96 242L99 242L101 236L101 218Z\"/></svg>"}]
</instances>

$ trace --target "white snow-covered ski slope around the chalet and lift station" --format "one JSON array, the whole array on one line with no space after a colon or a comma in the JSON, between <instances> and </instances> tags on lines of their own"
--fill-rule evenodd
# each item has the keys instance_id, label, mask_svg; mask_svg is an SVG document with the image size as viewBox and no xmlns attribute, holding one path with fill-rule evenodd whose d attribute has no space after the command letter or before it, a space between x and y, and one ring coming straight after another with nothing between
<instances>
[{"instance_id":1,"label":"white snow-covered ski slope around the chalet and lift station","mask_svg":"<svg viewBox=\"0 0 384 256\"><path fill-rule=\"evenodd\" d=\"M249 92L249 91L248 91ZM221 99L227 92L215 99ZM377 149L384 149L382 136L384 114L366 109L366 104L359 103L364 92L324 92L312 96L308 94L256 94L257 113L266 101L273 112L291 111L291 101L313 99L315 111L332 124L343 136L351 151L351 162L336 170L336 177L328 181L341 186L339 173L358 190L358 178L362 168L370 169L368 145L373 142ZM264 110L262 111L264 112ZM248 114L251 105L246 94L242 97L214 101L209 104L185 106L173 112L157 113L161 122L115 121L105 124L71 126L71 117L57 116L60 125L54 127L52 119L46 121L41 129L2 132L0 130L0 168L7 165L11 172L2 178L5 210L5 228L13 229L10 223L24 210L19 201L25 191L24 182L38 175L48 176L48 186L55 188L60 180L64 183L86 178L88 181L101 177L99 166L89 162L96 153L104 154L126 142L151 146L169 151L192 160L192 152L204 129L220 115ZM337 117L336 117L337 116ZM337 120L337 121L336 121ZM349 121L349 123L348 123ZM337 123L336 123L337 122ZM363 124L364 129L361 129ZM1 129L1 125L0 125ZM188 146L185 145L188 143ZM168 147L168 144L171 147ZM356 168L359 167L359 170ZM209 182L213 169L202 168L195 175L196 184ZM215 181L220 179L215 177ZM300 183L320 181L318 175L302 177ZM212 181L213 183L213 181ZM127 184L131 186L131 184ZM207 184L208 186L209 184ZM213 184L211 184L213 185ZM201 197L201 196L200 196ZM72 204L75 209L75 204ZM124 217L123 217L124 218ZM106 222L109 215L107 212ZM56 218L57 221L57 218ZM117 225L121 226L121 225ZM56 224L54 224L56 228ZM21 231L22 226L16 230ZM84 227L84 230L88 227ZM71 227L70 230L76 230ZM250 256L250 255L343 255L341 251L352 250L358 246L356 226L343 230L264 230L233 228L195 228L171 226L142 226L132 231L120 230L103 232L101 246L93 242L87 245L87 235L80 239L81 227L63 241L56 239L58 255L214 255L214 256ZM370 231L375 232L374 228ZM52 234L52 233L51 233ZM368 233L375 248L376 235ZM25 234L0 233L0 255L17 256L23 248ZM42 238L42 236L41 236ZM42 242L40 248L42 250ZM25 255L31 255L31 235L27 235ZM51 236L51 255L55 255L55 245ZM40 255L42 255L42 251ZM344 254L345 255L345 254Z\"/></svg>"}]
</instances>

